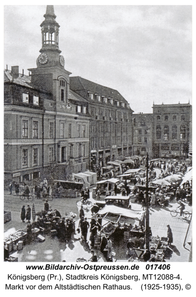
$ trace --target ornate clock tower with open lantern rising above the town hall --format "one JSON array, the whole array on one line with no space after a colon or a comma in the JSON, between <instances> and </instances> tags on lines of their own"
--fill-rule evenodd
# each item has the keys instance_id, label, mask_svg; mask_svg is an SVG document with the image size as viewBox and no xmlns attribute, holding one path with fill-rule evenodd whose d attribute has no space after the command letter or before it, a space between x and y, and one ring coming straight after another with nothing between
<instances>
[{"instance_id":1,"label":"ornate clock tower with open lantern rising above the town hall","mask_svg":"<svg viewBox=\"0 0 196 297\"><path fill-rule=\"evenodd\" d=\"M58 47L59 24L56 22L53 5L47 5L45 20L40 25L42 28L42 49L37 58L37 68L31 71L32 84L35 88L51 93L53 99L66 102L69 92L69 75L64 69L65 60L60 55ZM64 91L61 91L61 90ZM64 96L61 94L64 93ZM63 99L62 99L63 98Z\"/></svg>"}]
</instances>

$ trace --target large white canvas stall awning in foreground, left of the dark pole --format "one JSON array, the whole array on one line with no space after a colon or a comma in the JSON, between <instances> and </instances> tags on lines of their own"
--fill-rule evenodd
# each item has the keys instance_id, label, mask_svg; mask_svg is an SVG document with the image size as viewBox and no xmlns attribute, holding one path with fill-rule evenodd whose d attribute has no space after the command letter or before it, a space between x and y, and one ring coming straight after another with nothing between
<instances>
[{"instance_id":1,"label":"large white canvas stall awning in foreground, left of the dark pole","mask_svg":"<svg viewBox=\"0 0 196 297\"><path fill-rule=\"evenodd\" d=\"M106 214L108 212L113 213L118 216L123 215L128 218L132 218L137 221L140 221L142 219L142 216L145 211L134 211L131 209L126 209L126 208L118 207L115 205L105 205L105 207L103 207L102 209L100 209L98 211L98 214Z\"/></svg>"}]
</instances>

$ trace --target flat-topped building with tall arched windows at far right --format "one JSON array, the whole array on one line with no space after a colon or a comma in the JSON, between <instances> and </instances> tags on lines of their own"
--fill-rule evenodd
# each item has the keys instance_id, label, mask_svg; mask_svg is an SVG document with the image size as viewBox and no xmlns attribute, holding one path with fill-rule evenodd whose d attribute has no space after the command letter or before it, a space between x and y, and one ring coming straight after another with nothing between
<instances>
[{"instance_id":1,"label":"flat-topped building with tall arched windows at far right","mask_svg":"<svg viewBox=\"0 0 196 297\"><path fill-rule=\"evenodd\" d=\"M153 104L153 156L187 157L192 138L191 123L190 103Z\"/></svg>"}]
</instances>

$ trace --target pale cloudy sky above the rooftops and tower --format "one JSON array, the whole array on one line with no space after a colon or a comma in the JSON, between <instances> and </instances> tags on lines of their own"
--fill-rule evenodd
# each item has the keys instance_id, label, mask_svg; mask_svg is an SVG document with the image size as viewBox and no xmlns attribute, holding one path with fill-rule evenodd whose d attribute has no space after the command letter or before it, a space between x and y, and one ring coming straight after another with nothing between
<instances>
[{"instance_id":1,"label":"pale cloudy sky above the rooftops and tower","mask_svg":"<svg viewBox=\"0 0 196 297\"><path fill-rule=\"evenodd\" d=\"M4 68L37 67L45 13L46 5L4 6ZM71 76L118 90L135 113L192 103L191 5L54 5L54 13Z\"/></svg>"}]
</instances>

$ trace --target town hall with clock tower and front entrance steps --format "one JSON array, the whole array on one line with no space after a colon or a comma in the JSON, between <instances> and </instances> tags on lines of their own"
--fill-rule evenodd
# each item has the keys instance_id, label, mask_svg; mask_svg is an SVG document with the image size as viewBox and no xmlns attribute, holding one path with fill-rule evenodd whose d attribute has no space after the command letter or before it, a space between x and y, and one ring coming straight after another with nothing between
<instances>
[{"instance_id":1,"label":"town hall with clock tower and front entrance steps","mask_svg":"<svg viewBox=\"0 0 196 297\"><path fill-rule=\"evenodd\" d=\"M6 180L64 179L89 165L88 101L69 90L53 5L44 16L37 68L4 72Z\"/></svg>"}]
</instances>

